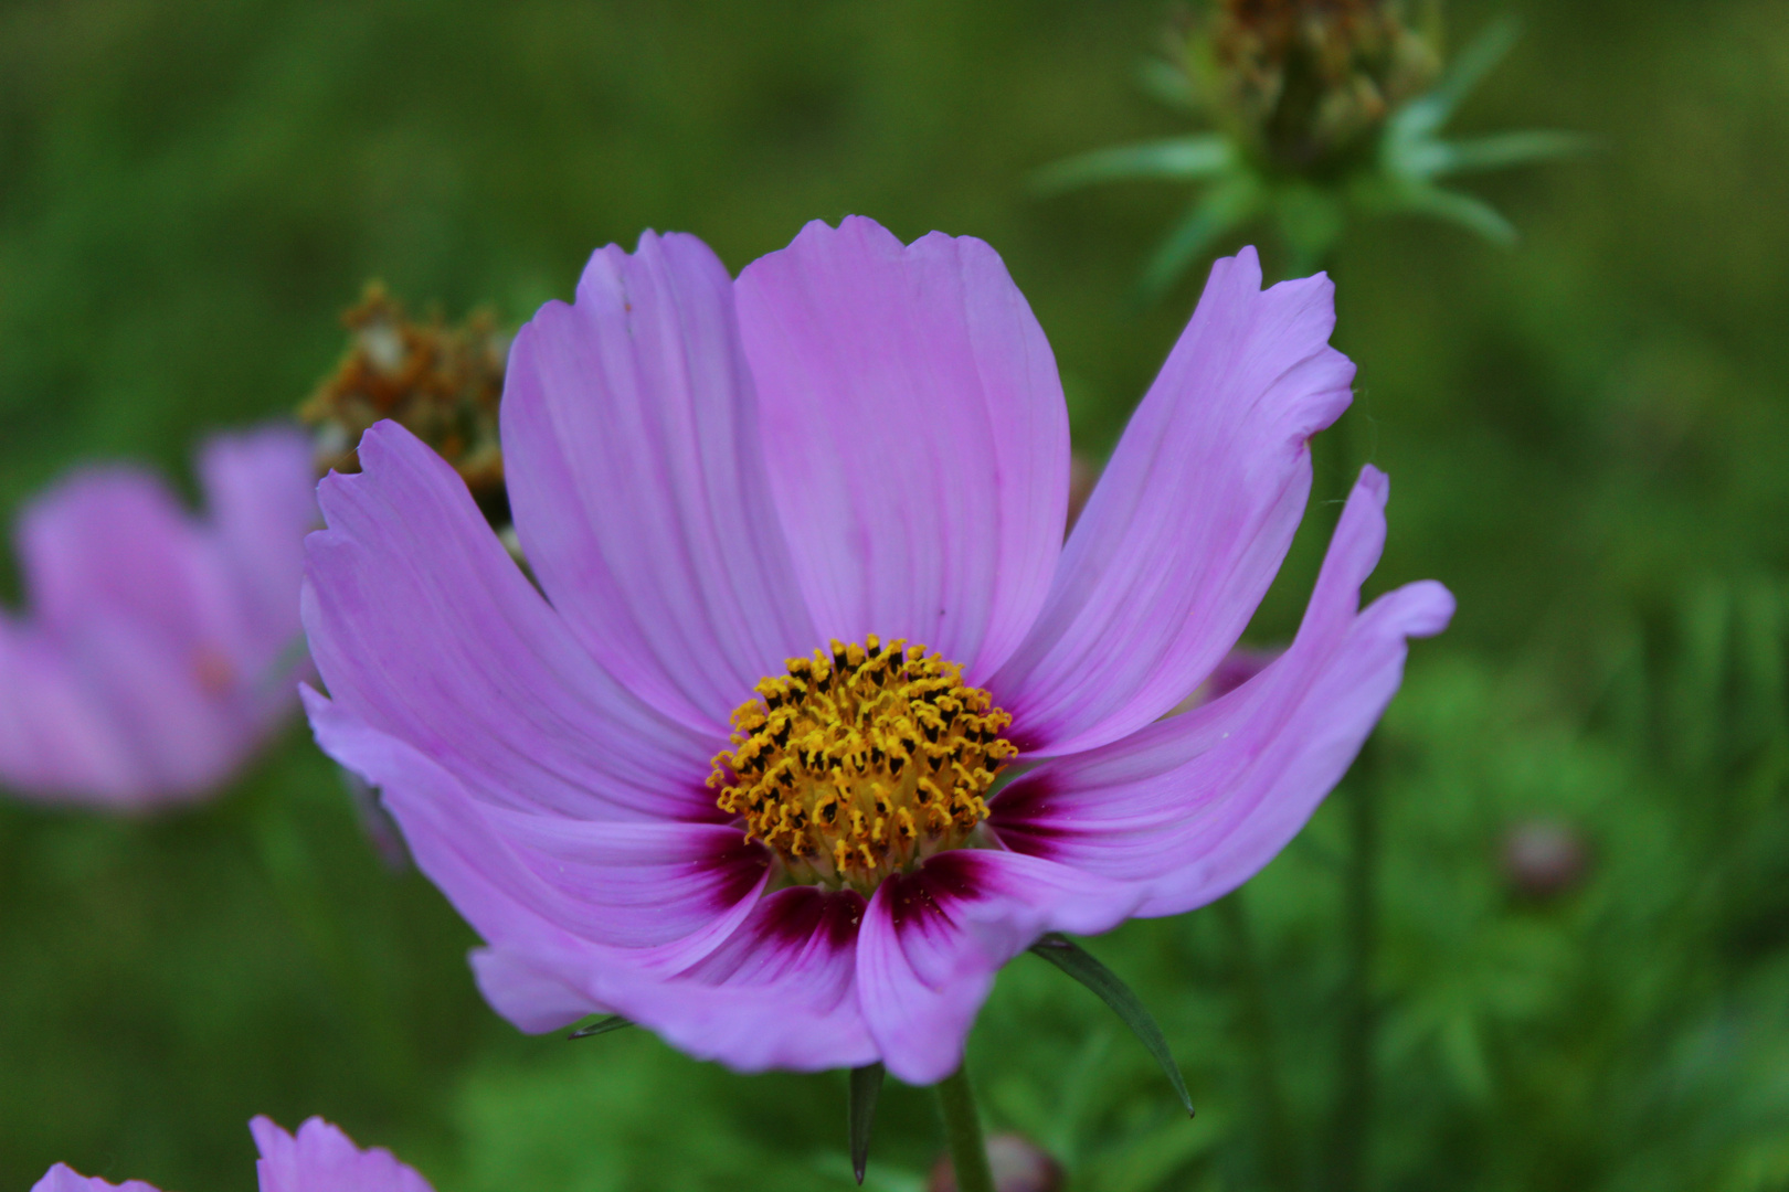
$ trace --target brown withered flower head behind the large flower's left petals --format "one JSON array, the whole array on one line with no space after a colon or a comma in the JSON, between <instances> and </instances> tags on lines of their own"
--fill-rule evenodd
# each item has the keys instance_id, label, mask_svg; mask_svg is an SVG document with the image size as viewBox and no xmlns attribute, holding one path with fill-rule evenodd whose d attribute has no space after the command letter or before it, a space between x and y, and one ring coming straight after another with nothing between
<instances>
[{"instance_id":1,"label":"brown withered flower head behind the large flower's left petals","mask_svg":"<svg viewBox=\"0 0 1789 1192\"><path fill-rule=\"evenodd\" d=\"M299 406L317 431L320 472L358 472L354 445L381 418L394 418L460 472L492 520L506 520L497 402L510 336L488 311L458 327L440 315L410 318L381 282L342 316L347 352Z\"/></svg>"}]
</instances>

